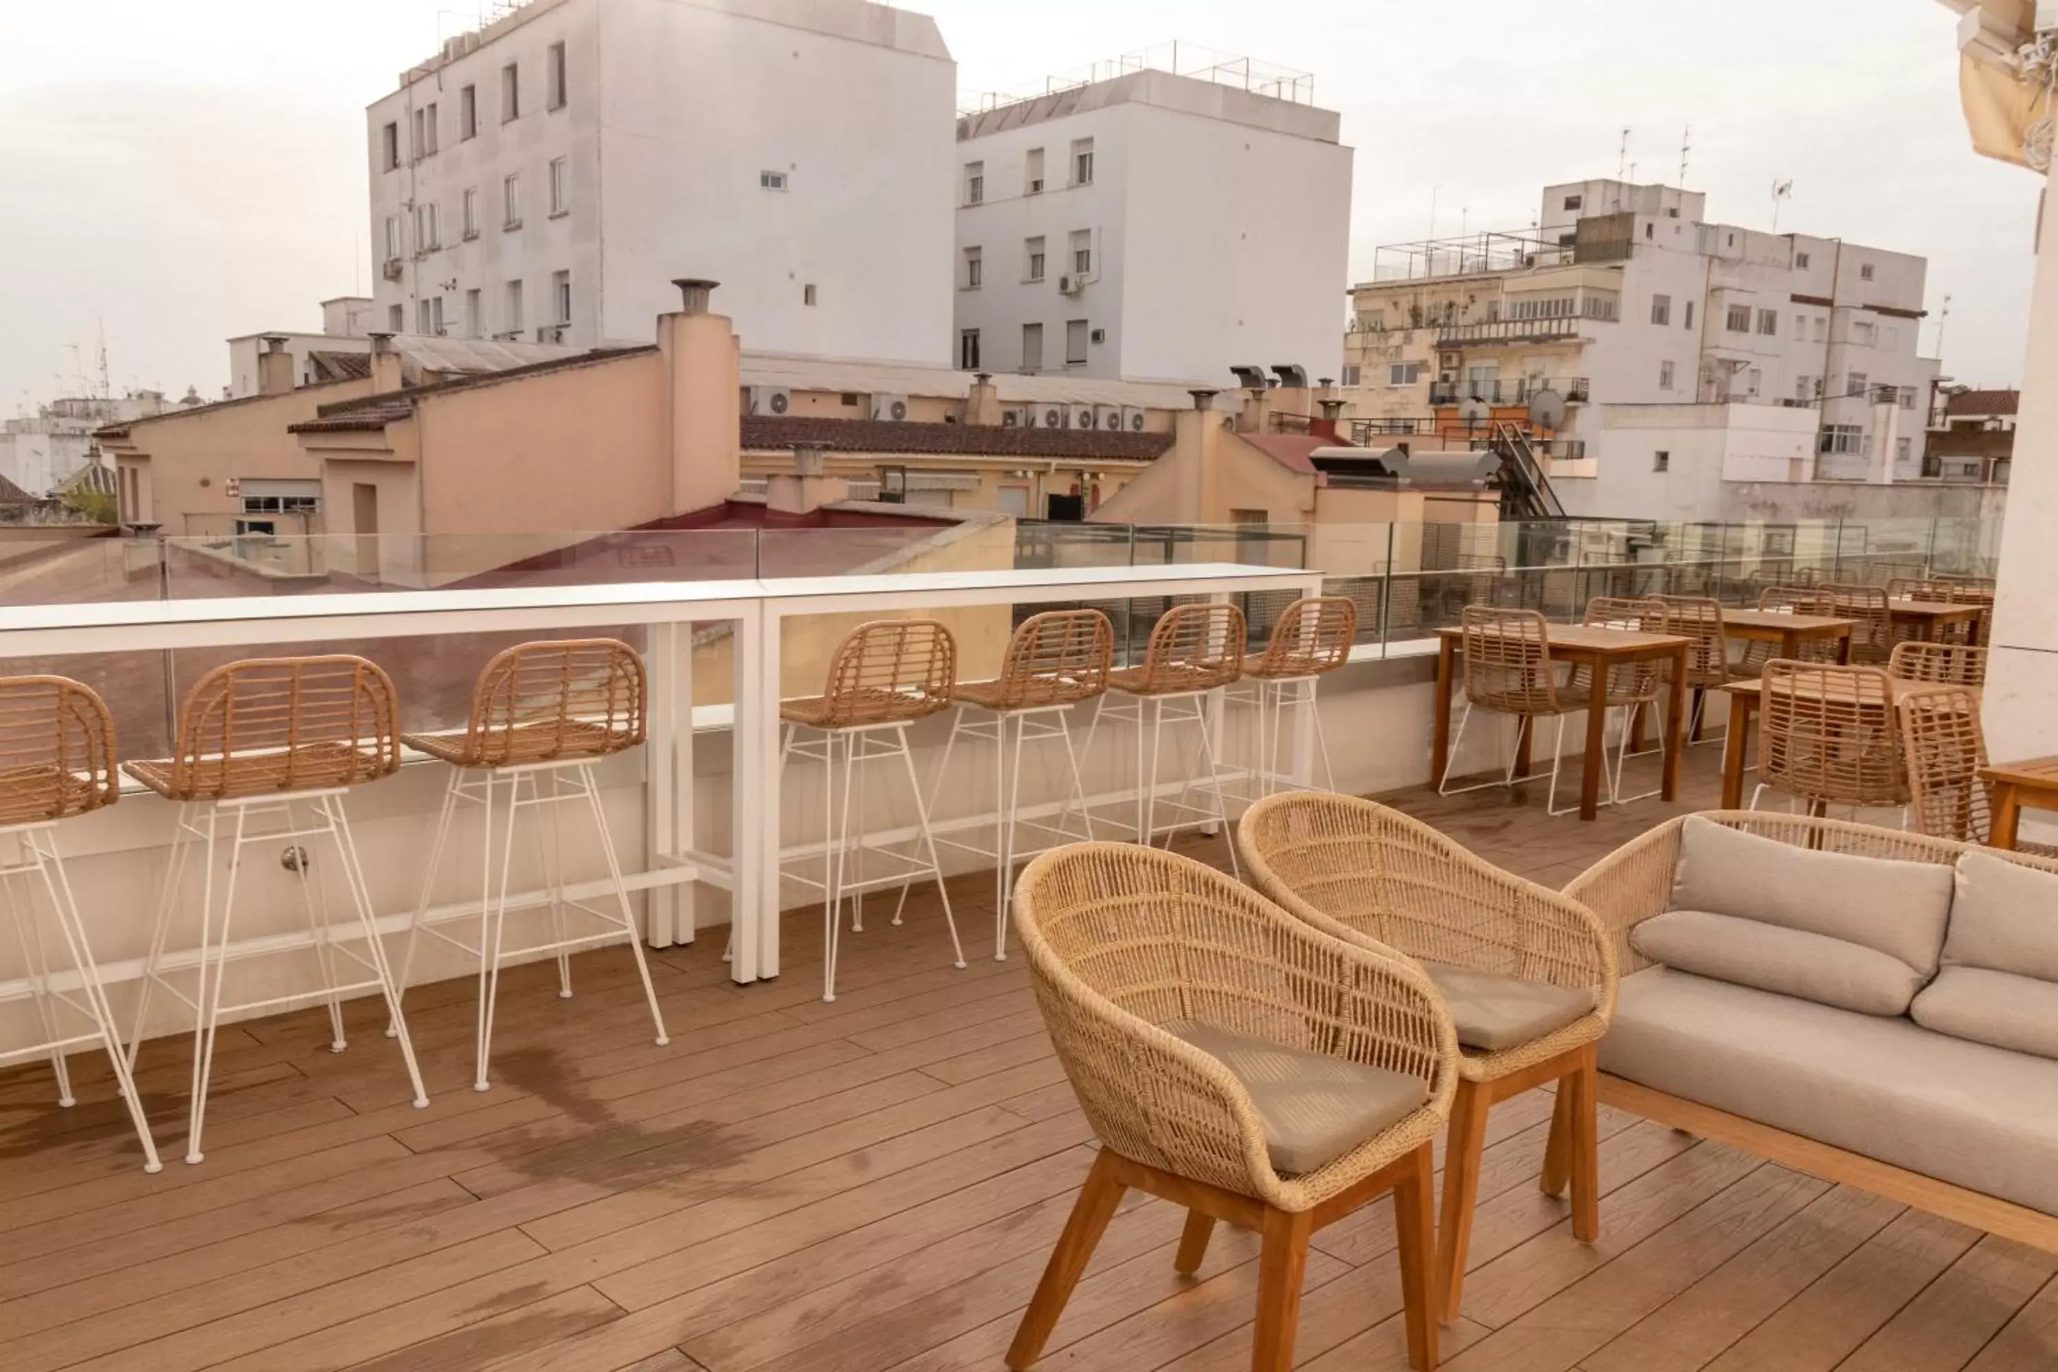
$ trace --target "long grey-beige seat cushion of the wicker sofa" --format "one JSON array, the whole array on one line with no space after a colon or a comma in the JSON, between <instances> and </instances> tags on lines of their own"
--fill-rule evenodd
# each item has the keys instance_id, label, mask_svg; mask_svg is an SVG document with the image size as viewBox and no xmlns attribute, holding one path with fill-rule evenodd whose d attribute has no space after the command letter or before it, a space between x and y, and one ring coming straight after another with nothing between
<instances>
[{"instance_id":1,"label":"long grey-beige seat cushion of the wicker sofa","mask_svg":"<svg viewBox=\"0 0 2058 1372\"><path fill-rule=\"evenodd\" d=\"M1601 1070L2058 1214L2058 1061L1671 967L1622 979Z\"/></svg>"}]
</instances>

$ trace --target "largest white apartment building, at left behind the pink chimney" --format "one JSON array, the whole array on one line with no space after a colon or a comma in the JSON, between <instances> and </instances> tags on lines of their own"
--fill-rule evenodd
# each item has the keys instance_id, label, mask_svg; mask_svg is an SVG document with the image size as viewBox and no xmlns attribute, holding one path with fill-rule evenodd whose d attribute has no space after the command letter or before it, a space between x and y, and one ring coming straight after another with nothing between
<instances>
[{"instance_id":1,"label":"largest white apartment building, at left behind the pink chimney","mask_svg":"<svg viewBox=\"0 0 2058 1372\"><path fill-rule=\"evenodd\" d=\"M366 111L385 331L949 362L957 68L864 0L529 0Z\"/></svg>"}]
</instances>

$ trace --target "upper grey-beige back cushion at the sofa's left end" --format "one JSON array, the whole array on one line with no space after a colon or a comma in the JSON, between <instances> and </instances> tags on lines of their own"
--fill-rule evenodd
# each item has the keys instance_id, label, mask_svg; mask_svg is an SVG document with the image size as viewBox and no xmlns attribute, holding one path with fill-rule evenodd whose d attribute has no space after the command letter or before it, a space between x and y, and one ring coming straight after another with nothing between
<instances>
[{"instance_id":1,"label":"upper grey-beige back cushion at the sofa's left end","mask_svg":"<svg viewBox=\"0 0 2058 1372\"><path fill-rule=\"evenodd\" d=\"M1953 876L1935 862L1795 847L1690 815L1671 905L1840 938L1928 979L1951 917Z\"/></svg>"}]
</instances>

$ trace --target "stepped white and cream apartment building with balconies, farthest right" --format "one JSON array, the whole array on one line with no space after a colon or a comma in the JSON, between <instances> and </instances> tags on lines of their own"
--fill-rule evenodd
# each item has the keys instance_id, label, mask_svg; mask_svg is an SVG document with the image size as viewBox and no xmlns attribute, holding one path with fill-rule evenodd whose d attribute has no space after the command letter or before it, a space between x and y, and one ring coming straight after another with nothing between
<instances>
[{"instance_id":1,"label":"stepped white and cream apartment building with balconies, farthest right","mask_svg":"<svg viewBox=\"0 0 2058 1372\"><path fill-rule=\"evenodd\" d=\"M1570 514L1790 518L1920 479L1926 261L1704 212L1696 191L1574 181L1543 189L1533 230L1381 249L1352 288L1350 413L1397 430L1476 397L1519 418L1552 389Z\"/></svg>"}]
</instances>

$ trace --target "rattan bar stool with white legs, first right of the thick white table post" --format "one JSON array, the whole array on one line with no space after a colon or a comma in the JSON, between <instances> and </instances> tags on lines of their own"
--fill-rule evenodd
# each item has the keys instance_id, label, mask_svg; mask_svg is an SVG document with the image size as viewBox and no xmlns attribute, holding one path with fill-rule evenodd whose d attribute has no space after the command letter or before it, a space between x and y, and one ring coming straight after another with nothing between
<instances>
[{"instance_id":1,"label":"rattan bar stool with white legs, first right of the thick white table post","mask_svg":"<svg viewBox=\"0 0 2058 1372\"><path fill-rule=\"evenodd\" d=\"M788 880L821 891L821 998L836 1000L836 952L842 942L838 911L850 897L850 928L864 930L864 893L883 887L908 887L918 880L936 882L943 901L943 922L951 928L951 948L957 967L965 965L965 948L957 940L957 919L951 915L951 893L943 884L943 864L936 858L936 837L928 827L928 802L914 773L914 753L908 747L908 726L951 708L957 685L957 640L934 619L875 619L860 623L836 646L829 677L821 695L788 699L780 706L786 741L780 767L801 757L823 765L821 780L821 880L786 872ZM899 759L908 773L914 800L914 856L887 845L868 843L864 825L864 786L858 792L858 825L852 835L850 792L864 763ZM871 862L885 862L891 872L866 874ZM893 924L901 907L893 909Z\"/></svg>"}]
</instances>

